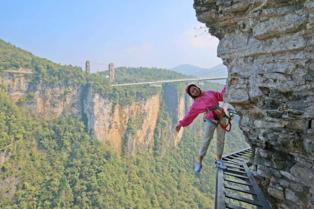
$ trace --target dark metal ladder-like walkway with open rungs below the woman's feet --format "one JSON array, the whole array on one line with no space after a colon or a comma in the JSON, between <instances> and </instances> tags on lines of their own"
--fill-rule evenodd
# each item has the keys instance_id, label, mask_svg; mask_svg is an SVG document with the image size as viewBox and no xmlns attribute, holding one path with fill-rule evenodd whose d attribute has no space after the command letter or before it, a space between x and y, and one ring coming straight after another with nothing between
<instances>
[{"instance_id":1,"label":"dark metal ladder-like walkway with open rungs below the woman's feet","mask_svg":"<svg viewBox=\"0 0 314 209\"><path fill-rule=\"evenodd\" d=\"M217 167L216 170L215 209L246 209L241 206L226 203L227 198L256 206L257 209L271 209L265 196L263 195L263 192L257 185L257 182L248 168L252 165L252 163L249 162L249 157L251 154L252 149L249 147L222 156L222 160L224 161L227 169L221 169ZM233 176L233 178L238 180L230 179L228 176ZM248 186L249 190L228 185L227 182ZM252 195L253 200L233 194L228 194L225 192L225 189Z\"/></svg>"}]
</instances>

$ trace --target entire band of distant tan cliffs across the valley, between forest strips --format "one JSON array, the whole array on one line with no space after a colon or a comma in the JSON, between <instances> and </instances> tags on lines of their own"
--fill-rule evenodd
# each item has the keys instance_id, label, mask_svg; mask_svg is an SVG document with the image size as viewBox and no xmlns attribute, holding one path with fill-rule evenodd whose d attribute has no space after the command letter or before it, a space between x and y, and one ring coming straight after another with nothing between
<instances>
[{"instance_id":1,"label":"entire band of distant tan cliffs across the valley, between forest strips","mask_svg":"<svg viewBox=\"0 0 314 209\"><path fill-rule=\"evenodd\" d=\"M105 144L109 144L120 154L122 151L137 154L152 148L154 129L160 109L160 94L148 99L138 98L127 106L114 105L109 98L103 98L89 86L68 87L63 84L55 86L34 85L31 74L4 73L0 83L6 84L5 91L19 106L28 107L33 113L49 117L65 115L83 120L88 133ZM173 87L165 87L172 91ZM29 92L34 97L19 101ZM184 95L174 92L167 100L168 112L171 112L170 125L163 130L167 138L165 146L175 146L182 137L175 133L174 125L185 113Z\"/></svg>"}]
</instances>

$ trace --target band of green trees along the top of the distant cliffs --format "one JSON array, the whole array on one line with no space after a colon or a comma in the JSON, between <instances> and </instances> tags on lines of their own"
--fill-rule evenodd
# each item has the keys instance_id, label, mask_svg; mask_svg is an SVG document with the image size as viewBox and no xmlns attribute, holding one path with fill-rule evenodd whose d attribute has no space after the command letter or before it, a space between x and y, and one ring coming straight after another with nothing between
<instances>
[{"instance_id":1,"label":"band of green trees along the top of the distant cliffs","mask_svg":"<svg viewBox=\"0 0 314 209\"><path fill-rule=\"evenodd\" d=\"M135 100L142 100L161 92L160 88L150 88L148 85L111 87L108 79L104 79L103 72L85 74L81 67L54 63L0 39L0 75L4 70L16 70L21 67L35 72L31 81L34 85L41 83L48 87L62 84L75 88L89 84L95 93L108 97L112 102L120 105L131 104ZM144 79L182 77L181 73L166 69L144 67L118 67L117 69Z\"/></svg>"}]
</instances>

